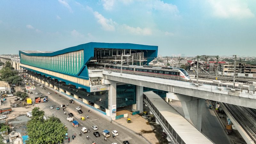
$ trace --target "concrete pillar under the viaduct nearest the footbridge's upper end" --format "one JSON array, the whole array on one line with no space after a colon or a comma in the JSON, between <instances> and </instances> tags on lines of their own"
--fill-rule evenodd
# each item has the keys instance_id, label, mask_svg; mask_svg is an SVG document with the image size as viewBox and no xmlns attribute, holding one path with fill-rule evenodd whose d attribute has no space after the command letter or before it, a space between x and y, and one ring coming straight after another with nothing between
<instances>
[{"instance_id":1,"label":"concrete pillar under the viaduct nearest the footbridge's upper end","mask_svg":"<svg viewBox=\"0 0 256 144\"><path fill-rule=\"evenodd\" d=\"M136 86L136 104L132 105L132 109L143 112L143 86Z\"/></svg>"}]
</instances>

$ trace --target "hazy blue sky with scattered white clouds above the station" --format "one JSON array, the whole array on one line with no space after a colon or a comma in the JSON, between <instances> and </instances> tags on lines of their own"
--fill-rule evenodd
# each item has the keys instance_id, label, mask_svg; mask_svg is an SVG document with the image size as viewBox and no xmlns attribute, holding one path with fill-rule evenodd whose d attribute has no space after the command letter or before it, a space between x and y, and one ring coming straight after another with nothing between
<instances>
[{"instance_id":1,"label":"hazy blue sky with scattered white clouds above the station","mask_svg":"<svg viewBox=\"0 0 256 144\"><path fill-rule=\"evenodd\" d=\"M1 0L0 54L88 42L158 54L256 55L255 0Z\"/></svg>"}]
</instances>

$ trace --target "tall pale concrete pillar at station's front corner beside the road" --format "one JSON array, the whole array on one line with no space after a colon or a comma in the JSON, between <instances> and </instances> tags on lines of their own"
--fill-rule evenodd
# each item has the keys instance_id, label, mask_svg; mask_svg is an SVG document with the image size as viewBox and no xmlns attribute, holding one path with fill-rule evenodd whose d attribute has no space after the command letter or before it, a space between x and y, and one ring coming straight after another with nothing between
<instances>
[{"instance_id":1,"label":"tall pale concrete pillar at station's front corner beside the road","mask_svg":"<svg viewBox=\"0 0 256 144\"><path fill-rule=\"evenodd\" d=\"M95 107L95 104L94 104ZM116 118L116 83L110 84L108 92L108 109L106 109L107 116L113 120Z\"/></svg>"}]
</instances>

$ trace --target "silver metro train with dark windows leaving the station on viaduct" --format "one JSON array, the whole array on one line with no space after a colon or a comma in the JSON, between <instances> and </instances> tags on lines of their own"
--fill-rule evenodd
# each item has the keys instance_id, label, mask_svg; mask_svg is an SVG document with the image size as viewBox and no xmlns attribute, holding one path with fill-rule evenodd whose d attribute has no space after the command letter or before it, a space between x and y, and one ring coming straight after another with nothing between
<instances>
[{"instance_id":1,"label":"silver metro train with dark windows leaving the station on viaduct","mask_svg":"<svg viewBox=\"0 0 256 144\"><path fill-rule=\"evenodd\" d=\"M88 66L102 66L110 71L121 71L120 64L108 64L108 63L90 63ZM134 66L134 65L123 65L123 72L149 75L149 76L160 76L160 77L169 77L182 80L190 80L190 77L186 70L182 68L167 68L167 67L143 67L143 66Z\"/></svg>"}]
</instances>

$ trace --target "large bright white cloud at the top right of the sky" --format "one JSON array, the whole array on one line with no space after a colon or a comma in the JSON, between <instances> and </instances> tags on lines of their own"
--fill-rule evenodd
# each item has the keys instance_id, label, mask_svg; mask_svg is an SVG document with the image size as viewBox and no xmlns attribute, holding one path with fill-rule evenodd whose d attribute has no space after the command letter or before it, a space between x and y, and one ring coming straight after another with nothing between
<instances>
[{"instance_id":1,"label":"large bright white cloud at the top right of the sky","mask_svg":"<svg viewBox=\"0 0 256 144\"><path fill-rule=\"evenodd\" d=\"M240 0L208 0L213 16L220 18L252 18L254 14L244 1Z\"/></svg>"}]
</instances>

